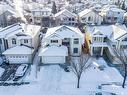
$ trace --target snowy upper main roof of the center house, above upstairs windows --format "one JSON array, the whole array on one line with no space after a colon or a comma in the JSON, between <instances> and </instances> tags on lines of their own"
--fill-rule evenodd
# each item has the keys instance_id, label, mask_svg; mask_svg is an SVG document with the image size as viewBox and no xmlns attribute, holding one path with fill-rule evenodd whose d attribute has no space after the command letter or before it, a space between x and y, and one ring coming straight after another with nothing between
<instances>
[{"instance_id":1,"label":"snowy upper main roof of the center house, above upstairs windows","mask_svg":"<svg viewBox=\"0 0 127 95\"><path fill-rule=\"evenodd\" d=\"M51 38L53 35L58 36L60 39L84 37L84 35L78 28L65 25L49 28L44 38L48 39Z\"/></svg>"}]
</instances>

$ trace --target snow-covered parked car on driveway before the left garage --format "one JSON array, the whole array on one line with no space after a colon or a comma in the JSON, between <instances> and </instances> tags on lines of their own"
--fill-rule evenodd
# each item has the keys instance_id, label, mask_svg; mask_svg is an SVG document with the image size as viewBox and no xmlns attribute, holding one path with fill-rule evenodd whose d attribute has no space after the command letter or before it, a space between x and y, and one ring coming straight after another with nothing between
<instances>
[{"instance_id":1,"label":"snow-covered parked car on driveway before the left garage","mask_svg":"<svg viewBox=\"0 0 127 95\"><path fill-rule=\"evenodd\" d=\"M27 64L20 65L16 70L15 76L23 76L28 68Z\"/></svg>"}]
</instances>

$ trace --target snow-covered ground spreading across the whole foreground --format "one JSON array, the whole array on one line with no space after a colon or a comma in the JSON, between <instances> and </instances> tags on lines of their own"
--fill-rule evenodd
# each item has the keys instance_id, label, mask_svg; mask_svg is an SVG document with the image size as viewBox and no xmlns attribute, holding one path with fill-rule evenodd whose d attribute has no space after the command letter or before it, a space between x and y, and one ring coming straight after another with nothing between
<instances>
[{"instance_id":1,"label":"snow-covered ground spreading across the whole foreground","mask_svg":"<svg viewBox=\"0 0 127 95\"><path fill-rule=\"evenodd\" d=\"M102 58L92 59L90 62L93 64L83 73L79 89L76 88L76 77L72 72L65 72L59 66L52 65L41 67L37 79L31 78L35 74L33 67L32 74L26 77L26 80L31 79L30 84L1 86L0 95L94 95L90 93L99 91L98 85L122 82L123 77L119 72L115 68L108 67ZM106 66L104 71L97 68L101 64ZM116 85L103 86L101 91L127 95L127 89L122 89L121 86Z\"/></svg>"}]
</instances>

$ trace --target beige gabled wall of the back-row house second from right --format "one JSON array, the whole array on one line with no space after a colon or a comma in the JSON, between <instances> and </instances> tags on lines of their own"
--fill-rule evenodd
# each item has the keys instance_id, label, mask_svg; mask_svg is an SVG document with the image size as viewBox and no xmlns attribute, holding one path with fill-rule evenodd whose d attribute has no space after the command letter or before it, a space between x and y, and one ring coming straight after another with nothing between
<instances>
[{"instance_id":1,"label":"beige gabled wall of the back-row house second from right","mask_svg":"<svg viewBox=\"0 0 127 95\"><path fill-rule=\"evenodd\" d=\"M89 21L89 17L91 18L91 20ZM84 20L83 20L84 19ZM90 12L86 15L84 15L83 17L80 17L80 21L83 24L97 24L97 25L101 25L103 18L94 13L94 12Z\"/></svg>"}]
</instances>

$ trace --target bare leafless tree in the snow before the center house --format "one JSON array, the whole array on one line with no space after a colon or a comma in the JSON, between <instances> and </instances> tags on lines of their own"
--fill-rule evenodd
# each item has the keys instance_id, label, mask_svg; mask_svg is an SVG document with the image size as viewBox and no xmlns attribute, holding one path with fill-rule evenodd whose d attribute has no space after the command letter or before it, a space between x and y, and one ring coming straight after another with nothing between
<instances>
[{"instance_id":1,"label":"bare leafless tree in the snow before the center house","mask_svg":"<svg viewBox=\"0 0 127 95\"><path fill-rule=\"evenodd\" d=\"M90 55L81 55L80 57L72 57L71 58L71 70L77 77L77 88L80 85L80 79L83 72L91 65L88 63Z\"/></svg>"}]
</instances>

